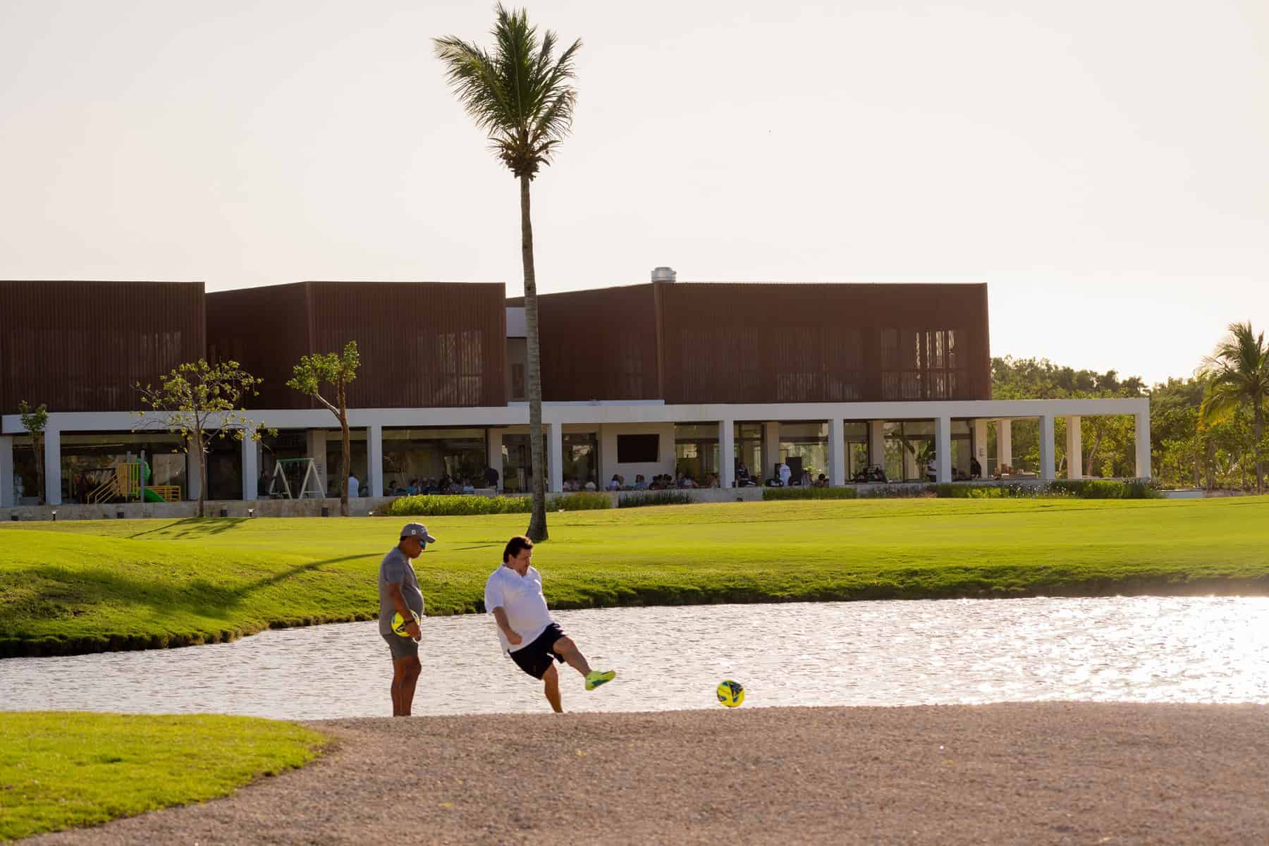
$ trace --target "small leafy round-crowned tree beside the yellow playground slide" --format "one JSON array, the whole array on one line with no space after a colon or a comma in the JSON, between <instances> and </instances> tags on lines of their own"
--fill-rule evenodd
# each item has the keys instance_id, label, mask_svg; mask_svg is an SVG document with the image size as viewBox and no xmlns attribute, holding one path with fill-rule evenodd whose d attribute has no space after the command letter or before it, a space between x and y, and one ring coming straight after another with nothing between
<instances>
[{"instance_id":1,"label":"small leafy round-crowned tree beside the yellow playground slide","mask_svg":"<svg viewBox=\"0 0 1269 846\"><path fill-rule=\"evenodd\" d=\"M213 439L230 435L235 440L259 440L261 434L277 434L250 420L242 400L260 393L258 379L239 367L237 361L208 364L206 359L176 367L162 378L159 387L141 387L140 429L173 431L190 443L198 454L198 516L203 515L207 498L207 454Z\"/></svg>"}]
</instances>

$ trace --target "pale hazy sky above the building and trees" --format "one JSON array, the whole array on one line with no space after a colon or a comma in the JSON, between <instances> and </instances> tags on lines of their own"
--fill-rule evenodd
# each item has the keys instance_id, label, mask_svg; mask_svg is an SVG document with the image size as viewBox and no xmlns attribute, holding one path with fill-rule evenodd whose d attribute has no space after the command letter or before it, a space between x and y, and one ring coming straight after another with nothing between
<instances>
[{"instance_id":1,"label":"pale hazy sky above the building and trees","mask_svg":"<svg viewBox=\"0 0 1269 846\"><path fill-rule=\"evenodd\" d=\"M1269 326L1264 0L528 9L584 44L574 133L533 185L539 293L657 265L985 282L992 355L1147 382ZM487 44L492 20L0 0L0 278L520 294L518 185L430 41Z\"/></svg>"}]
</instances>

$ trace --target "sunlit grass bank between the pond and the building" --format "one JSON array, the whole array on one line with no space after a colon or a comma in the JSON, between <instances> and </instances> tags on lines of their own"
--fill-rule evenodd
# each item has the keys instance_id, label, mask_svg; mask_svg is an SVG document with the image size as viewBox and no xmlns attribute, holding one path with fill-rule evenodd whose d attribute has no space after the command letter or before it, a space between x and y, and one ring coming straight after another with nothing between
<instances>
[{"instance_id":1,"label":"sunlit grass bank between the pond and the building","mask_svg":"<svg viewBox=\"0 0 1269 846\"><path fill-rule=\"evenodd\" d=\"M179 646L371 619L402 517L0 529L0 656ZM478 609L525 515L428 517L429 614ZM855 500L551 515L555 608L1269 592L1269 497Z\"/></svg>"}]
</instances>

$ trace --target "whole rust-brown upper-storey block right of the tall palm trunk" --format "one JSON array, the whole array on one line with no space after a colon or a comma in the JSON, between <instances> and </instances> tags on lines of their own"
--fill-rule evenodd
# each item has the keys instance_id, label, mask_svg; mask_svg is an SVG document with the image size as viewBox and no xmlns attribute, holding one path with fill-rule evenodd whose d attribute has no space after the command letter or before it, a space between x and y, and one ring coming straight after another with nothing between
<instances>
[{"instance_id":1,"label":"whole rust-brown upper-storey block right of the tall palm trunk","mask_svg":"<svg viewBox=\"0 0 1269 846\"><path fill-rule=\"evenodd\" d=\"M543 398L987 400L987 287L651 283L538 298Z\"/></svg>"}]
</instances>

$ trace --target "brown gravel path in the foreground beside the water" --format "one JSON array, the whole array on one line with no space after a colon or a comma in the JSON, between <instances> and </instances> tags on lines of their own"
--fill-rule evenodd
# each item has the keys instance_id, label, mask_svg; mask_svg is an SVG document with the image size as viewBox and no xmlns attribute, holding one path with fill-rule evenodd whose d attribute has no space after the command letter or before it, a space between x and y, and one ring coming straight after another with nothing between
<instances>
[{"instance_id":1,"label":"brown gravel path in the foreground beside the water","mask_svg":"<svg viewBox=\"0 0 1269 846\"><path fill-rule=\"evenodd\" d=\"M311 723L303 770L37 843L1263 843L1269 706Z\"/></svg>"}]
</instances>

